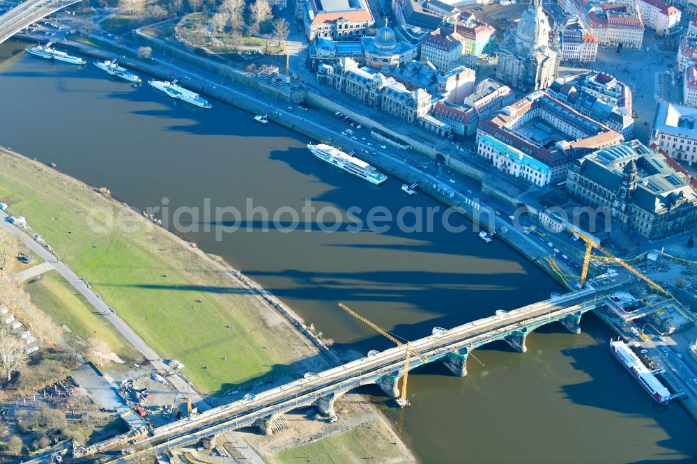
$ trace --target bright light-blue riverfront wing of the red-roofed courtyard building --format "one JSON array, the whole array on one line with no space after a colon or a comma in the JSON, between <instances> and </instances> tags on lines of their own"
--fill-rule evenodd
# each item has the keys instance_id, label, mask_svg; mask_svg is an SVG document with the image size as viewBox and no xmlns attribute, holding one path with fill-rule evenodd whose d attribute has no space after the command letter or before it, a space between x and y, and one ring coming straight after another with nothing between
<instances>
[{"instance_id":1,"label":"bright light-blue riverfront wing of the red-roofed courtyard building","mask_svg":"<svg viewBox=\"0 0 697 464\"><path fill-rule=\"evenodd\" d=\"M489 134L484 134L477 141L477 153L490 160L493 167L510 176L524 178L539 186L551 181L552 170L549 166Z\"/></svg>"}]
</instances>

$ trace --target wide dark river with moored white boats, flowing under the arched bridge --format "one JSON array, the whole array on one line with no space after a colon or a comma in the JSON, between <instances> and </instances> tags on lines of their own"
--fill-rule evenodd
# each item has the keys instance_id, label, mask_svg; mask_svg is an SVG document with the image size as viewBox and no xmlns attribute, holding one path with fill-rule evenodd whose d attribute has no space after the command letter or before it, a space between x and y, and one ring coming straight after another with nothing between
<instances>
[{"instance_id":1,"label":"wide dark river with moored white boats, flowing under the arched bridge","mask_svg":"<svg viewBox=\"0 0 697 464\"><path fill-rule=\"evenodd\" d=\"M0 144L109 187L130 205L157 206L166 197L171 209L210 199L212 208L244 210L252 199L273 215L279 208L300 211L312 199L318 210L332 206L344 216L352 207L396 213L438 206L423 194L402 194L398 180L371 187L327 169L309 155L305 137L273 123L256 125L252 115L222 102L197 109L147 84L117 82L92 65L16 56L22 47L0 46ZM286 219L263 231L259 218L244 217L242 228L222 240L202 230L183 235L259 281L337 348L390 347L337 302L416 339L434 326L560 291L502 242L484 245L469 229L447 231L440 215L432 231L412 233L395 224L383 233L351 233L347 226L326 233L302 222L287 232ZM206 219L199 219L203 229ZM609 354L611 333L596 316L584 316L582 330L542 327L528 337L524 355L504 343L484 346L468 359L466 378L437 364L421 367L409 378L413 407L406 410L393 408L377 389L367 393L429 463L695 458L696 427L680 405L652 402Z\"/></svg>"}]
</instances>

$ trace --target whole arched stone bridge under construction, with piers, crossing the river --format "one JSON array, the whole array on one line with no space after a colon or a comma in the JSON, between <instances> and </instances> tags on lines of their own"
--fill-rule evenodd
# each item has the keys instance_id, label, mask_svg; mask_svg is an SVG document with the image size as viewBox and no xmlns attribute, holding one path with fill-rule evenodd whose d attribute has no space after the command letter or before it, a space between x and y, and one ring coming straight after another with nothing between
<instances>
[{"instance_id":1,"label":"whole arched stone bridge under construction, with piers, crossing the river","mask_svg":"<svg viewBox=\"0 0 697 464\"><path fill-rule=\"evenodd\" d=\"M580 333L581 316L602 307L608 293L622 283L606 285L602 290L586 288L566 295L552 295L549 300L530 304L512 311L498 311L489 318L475 320L450 330L434 329L433 334L410 343L409 370L430 362L443 362L457 376L466 376L468 355L492 341L506 341L515 350L526 351L530 332L553 322L569 331ZM245 399L207 410L172 424L130 434L94 444L75 451L75 457L98 454L115 447L139 449L144 453L162 453L167 447L196 442L206 436L238 428L256 426L261 433L273 433L275 419L296 408L315 406L325 417L335 415L334 403L343 394L362 385L376 384L385 394L399 396L399 379L404 375L406 351L395 347L381 353L356 359L321 373L306 373L303 378L285 385L248 394ZM128 461L129 456L123 460Z\"/></svg>"}]
</instances>

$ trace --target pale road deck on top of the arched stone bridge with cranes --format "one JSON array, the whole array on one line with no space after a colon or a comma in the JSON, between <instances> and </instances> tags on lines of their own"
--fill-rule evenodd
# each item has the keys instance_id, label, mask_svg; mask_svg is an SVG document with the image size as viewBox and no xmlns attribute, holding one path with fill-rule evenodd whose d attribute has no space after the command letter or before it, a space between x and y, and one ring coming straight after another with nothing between
<instances>
[{"instance_id":1,"label":"pale road deck on top of the arched stone bridge with cranes","mask_svg":"<svg viewBox=\"0 0 697 464\"><path fill-rule=\"evenodd\" d=\"M588 289L550 300L530 304L505 314L475 320L438 335L430 335L411 342L411 348L434 362L461 348L476 348L493 340L503 339L512 332L532 331L546 323L560 320L570 314L582 314L604 303L603 296L614 286L602 291ZM411 357L411 366L425 362ZM286 385L261 392L252 401L240 400L208 410L201 415L162 426L153 436L139 442L139 447L153 447L167 439L174 443L190 442L211 433L221 433L251 426L259 419L281 414L294 408L312 405L315 401L338 395L357 387L375 383L384 376L401 375L404 367L404 348L390 348L371 357L323 371L309 378L301 378ZM195 432L194 432L195 431ZM174 437L174 438L173 438Z\"/></svg>"}]
</instances>

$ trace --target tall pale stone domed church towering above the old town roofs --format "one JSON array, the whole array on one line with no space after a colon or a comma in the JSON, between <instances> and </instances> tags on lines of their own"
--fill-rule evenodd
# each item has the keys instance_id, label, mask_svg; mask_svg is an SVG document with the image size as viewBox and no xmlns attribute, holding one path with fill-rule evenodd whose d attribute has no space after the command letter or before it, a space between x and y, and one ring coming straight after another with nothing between
<instances>
[{"instance_id":1,"label":"tall pale stone domed church towering above the old town roofs","mask_svg":"<svg viewBox=\"0 0 697 464\"><path fill-rule=\"evenodd\" d=\"M542 0L531 0L517 27L506 33L498 47L497 79L526 92L551 86L558 59L549 45L550 31Z\"/></svg>"}]
</instances>

